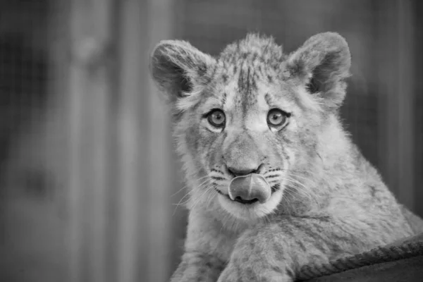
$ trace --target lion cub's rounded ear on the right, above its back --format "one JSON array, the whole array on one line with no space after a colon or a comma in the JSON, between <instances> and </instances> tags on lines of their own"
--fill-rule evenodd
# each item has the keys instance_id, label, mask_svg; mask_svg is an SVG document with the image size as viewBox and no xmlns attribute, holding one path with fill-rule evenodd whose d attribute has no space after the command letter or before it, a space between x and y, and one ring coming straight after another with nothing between
<instances>
[{"instance_id":1,"label":"lion cub's rounded ear on the right, above its back","mask_svg":"<svg viewBox=\"0 0 423 282\"><path fill-rule=\"evenodd\" d=\"M310 37L288 57L290 74L300 78L310 94L324 100L326 109L337 109L345 97L345 78L350 75L351 56L345 39L335 32Z\"/></svg>"}]
</instances>

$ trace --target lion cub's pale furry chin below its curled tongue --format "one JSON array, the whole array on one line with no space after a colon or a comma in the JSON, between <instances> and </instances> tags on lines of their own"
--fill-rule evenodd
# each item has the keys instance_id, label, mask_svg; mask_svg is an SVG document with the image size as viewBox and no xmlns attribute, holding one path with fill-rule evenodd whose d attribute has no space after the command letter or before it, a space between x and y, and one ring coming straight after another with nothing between
<instances>
[{"instance_id":1,"label":"lion cub's pale furry chin below its curled tongue","mask_svg":"<svg viewBox=\"0 0 423 282\"><path fill-rule=\"evenodd\" d=\"M278 189L273 192L269 200L264 203L255 202L253 204L240 204L239 202L234 202L226 195L218 195L221 207L236 219L242 221L254 221L255 219L272 214L281 202L282 197L283 190Z\"/></svg>"}]
</instances>

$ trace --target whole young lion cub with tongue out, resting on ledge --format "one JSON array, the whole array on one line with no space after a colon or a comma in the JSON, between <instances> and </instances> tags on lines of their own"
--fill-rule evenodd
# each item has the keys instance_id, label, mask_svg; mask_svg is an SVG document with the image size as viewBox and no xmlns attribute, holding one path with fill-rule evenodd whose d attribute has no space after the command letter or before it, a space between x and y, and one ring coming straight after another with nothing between
<instances>
[{"instance_id":1,"label":"whole young lion cub with tongue out, resting on ledge","mask_svg":"<svg viewBox=\"0 0 423 282\"><path fill-rule=\"evenodd\" d=\"M350 69L341 35L284 54L250 34L216 57L163 41L150 68L190 188L171 281L293 281L306 264L412 235L338 118Z\"/></svg>"}]
</instances>

